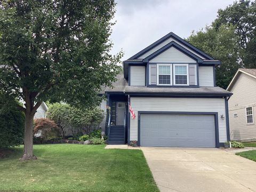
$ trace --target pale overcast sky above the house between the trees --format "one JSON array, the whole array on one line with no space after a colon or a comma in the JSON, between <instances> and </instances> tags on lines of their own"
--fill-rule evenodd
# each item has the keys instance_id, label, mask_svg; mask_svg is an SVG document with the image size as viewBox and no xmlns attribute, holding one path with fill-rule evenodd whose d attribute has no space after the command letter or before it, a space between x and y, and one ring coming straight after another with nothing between
<instances>
[{"instance_id":1,"label":"pale overcast sky above the house between the trees","mask_svg":"<svg viewBox=\"0 0 256 192\"><path fill-rule=\"evenodd\" d=\"M116 0L111 53L132 57L171 31L186 38L217 17L234 0Z\"/></svg>"}]
</instances>

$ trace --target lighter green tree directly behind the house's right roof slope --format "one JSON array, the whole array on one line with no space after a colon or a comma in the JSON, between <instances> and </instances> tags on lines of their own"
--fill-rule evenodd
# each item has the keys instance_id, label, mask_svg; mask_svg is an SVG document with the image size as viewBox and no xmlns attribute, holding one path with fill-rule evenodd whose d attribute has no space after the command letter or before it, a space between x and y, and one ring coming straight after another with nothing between
<instances>
[{"instance_id":1,"label":"lighter green tree directly behind the house's right roof slope","mask_svg":"<svg viewBox=\"0 0 256 192\"><path fill-rule=\"evenodd\" d=\"M236 73L238 65L237 36L233 26L222 25L218 30L206 27L188 37L188 42L198 47L213 58L220 60L221 65L215 69L216 85L226 89Z\"/></svg>"}]
</instances>

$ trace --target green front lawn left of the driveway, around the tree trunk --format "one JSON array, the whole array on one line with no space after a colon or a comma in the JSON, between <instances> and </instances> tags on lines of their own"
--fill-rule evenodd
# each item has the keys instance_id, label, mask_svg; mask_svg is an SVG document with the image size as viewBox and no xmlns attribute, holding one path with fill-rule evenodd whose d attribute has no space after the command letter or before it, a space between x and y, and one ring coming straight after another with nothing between
<instances>
[{"instance_id":1,"label":"green front lawn left of the driveway, around the tree trunk","mask_svg":"<svg viewBox=\"0 0 256 192\"><path fill-rule=\"evenodd\" d=\"M104 147L35 145L27 162L15 147L0 159L0 191L159 191L141 150Z\"/></svg>"}]
</instances>

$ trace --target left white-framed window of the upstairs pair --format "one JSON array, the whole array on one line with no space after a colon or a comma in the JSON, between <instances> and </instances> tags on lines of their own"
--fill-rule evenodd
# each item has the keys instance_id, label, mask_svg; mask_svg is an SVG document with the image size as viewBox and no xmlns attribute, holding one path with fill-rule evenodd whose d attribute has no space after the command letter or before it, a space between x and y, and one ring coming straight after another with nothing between
<instances>
[{"instance_id":1,"label":"left white-framed window of the upstairs pair","mask_svg":"<svg viewBox=\"0 0 256 192\"><path fill-rule=\"evenodd\" d=\"M157 65L157 84L172 85L172 65Z\"/></svg>"}]
</instances>

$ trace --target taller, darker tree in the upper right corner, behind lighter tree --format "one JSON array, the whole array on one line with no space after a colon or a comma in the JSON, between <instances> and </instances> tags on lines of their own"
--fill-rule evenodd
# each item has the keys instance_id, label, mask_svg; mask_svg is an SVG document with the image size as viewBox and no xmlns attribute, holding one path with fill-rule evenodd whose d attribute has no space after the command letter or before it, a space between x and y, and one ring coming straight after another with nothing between
<instances>
[{"instance_id":1,"label":"taller, darker tree in the upper right corner, behind lighter tree","mask_svg":"<svg viewBox=\"0 0 256 192\"><path fill-rule=\"evenodd\" d=\"M241 0L220 9L212 26L218 31L222 25L235 26L241 66L256 68L256 3Z\"/></svg>"}]
</instances>

